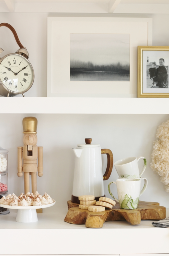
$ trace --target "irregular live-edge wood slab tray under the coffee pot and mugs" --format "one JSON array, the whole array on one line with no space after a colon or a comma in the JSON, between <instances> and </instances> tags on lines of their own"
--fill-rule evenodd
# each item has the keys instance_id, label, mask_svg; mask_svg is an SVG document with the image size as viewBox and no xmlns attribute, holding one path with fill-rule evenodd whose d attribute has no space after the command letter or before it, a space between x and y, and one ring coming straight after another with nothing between
<instances>
[{"instance_id":1,"label":"irregular live-edge wood slab tray under the coffee pot and mugs","mask_svg":"<svg viewBox=\"0 0 169 256\"><path fill-rule=\"evenodd\" d=\"M156 202L139 201L138 208L134 210L120 209L116 205L102 212L90 212L79 209L79 204L68 201L68 213L65 221L72 224L86 224L87 228L102 228L105 221L126 220L132 225L140 224L141 220L162 220L166 218L166 209Z\"/></svg>"}]
</instances>

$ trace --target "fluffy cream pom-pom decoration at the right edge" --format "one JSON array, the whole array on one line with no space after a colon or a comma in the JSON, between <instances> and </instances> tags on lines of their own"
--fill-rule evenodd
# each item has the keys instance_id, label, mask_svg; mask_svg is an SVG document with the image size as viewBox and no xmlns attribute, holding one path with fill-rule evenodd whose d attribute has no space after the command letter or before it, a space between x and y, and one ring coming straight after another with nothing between
<instances>
[{"instance_id":1,"label":"fluffy cream pom-pom decoration at the right edge","mask_svg":"<svg viewBox=\"0 0 169 256\"><path fill-rule=\"evenodd\" d=\"M153 143L151 168L161 176L160 180L169 193L169 120L159 125L156 138Z\"/></svg>"}]
</instances>

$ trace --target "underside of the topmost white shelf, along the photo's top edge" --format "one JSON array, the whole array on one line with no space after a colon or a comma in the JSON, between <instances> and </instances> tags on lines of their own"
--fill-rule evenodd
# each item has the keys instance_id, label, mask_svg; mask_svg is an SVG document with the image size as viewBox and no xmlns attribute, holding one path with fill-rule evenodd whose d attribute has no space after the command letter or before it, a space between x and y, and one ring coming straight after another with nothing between
<instances>
[{"instance_id":1,"label":"underside of the topmost white shelf, along the photo's top edge","mask_svg":"<svg viewBox=\"0 0 169 256\"><path fill-rule=\"evenodd\" d=\"M169 4L167 0L1 0L0 12L168 14Z\"/></svg>"}]
</instances>

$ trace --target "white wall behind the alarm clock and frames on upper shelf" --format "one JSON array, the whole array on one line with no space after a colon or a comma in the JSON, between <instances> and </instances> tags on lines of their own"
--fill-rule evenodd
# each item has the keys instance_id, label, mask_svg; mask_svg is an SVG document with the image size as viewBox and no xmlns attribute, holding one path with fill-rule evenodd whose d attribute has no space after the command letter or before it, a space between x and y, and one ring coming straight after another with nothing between
<instances>
[{"instance_id":1,"label":"white wall behind the alarm clock and frames on upper shelf","mask_svg":"<svg viewBox=\"0 0 169 256\"><path fill-rule=\"evenodd\" d=\"M47 17L48 16L96 16L96 17L152 17L153 45L169 44L169 14L58 14L58 13L0 13L0 23L11 24L29 52L29 61L35 71L32 88L26 97L47 97ZM12 32L0 28L0 47L4 52L0 57L16 52L19 48ZM137 84L135 85L137 87ZM17 97L22 97L18 95Z\"/></svg>"}]
</instances>

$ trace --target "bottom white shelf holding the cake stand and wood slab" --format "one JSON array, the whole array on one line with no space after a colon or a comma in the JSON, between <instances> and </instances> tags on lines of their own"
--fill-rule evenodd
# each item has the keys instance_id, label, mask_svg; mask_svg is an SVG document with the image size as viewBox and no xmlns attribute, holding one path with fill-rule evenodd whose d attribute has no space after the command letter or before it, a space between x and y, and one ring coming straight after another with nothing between
<instances>
[{"instance_id":1,"label":"bottom white shelf holding the cake stand and wood slab","mask_svg":"<svg viewBox=\"0 0 169 256\"><path fill-rule=\"evenodd\" d=\"M152 220L134 226L127 221L110 221L100 229L90 229L64 222L66 214L66 207L55 205L43 209L34 223L16 222L16 210L0 216L1 234L7 238L10 233L10 238L3 240L1 254L168 253L169 229L154 227Z\"/></svg>"}]
</instances>

